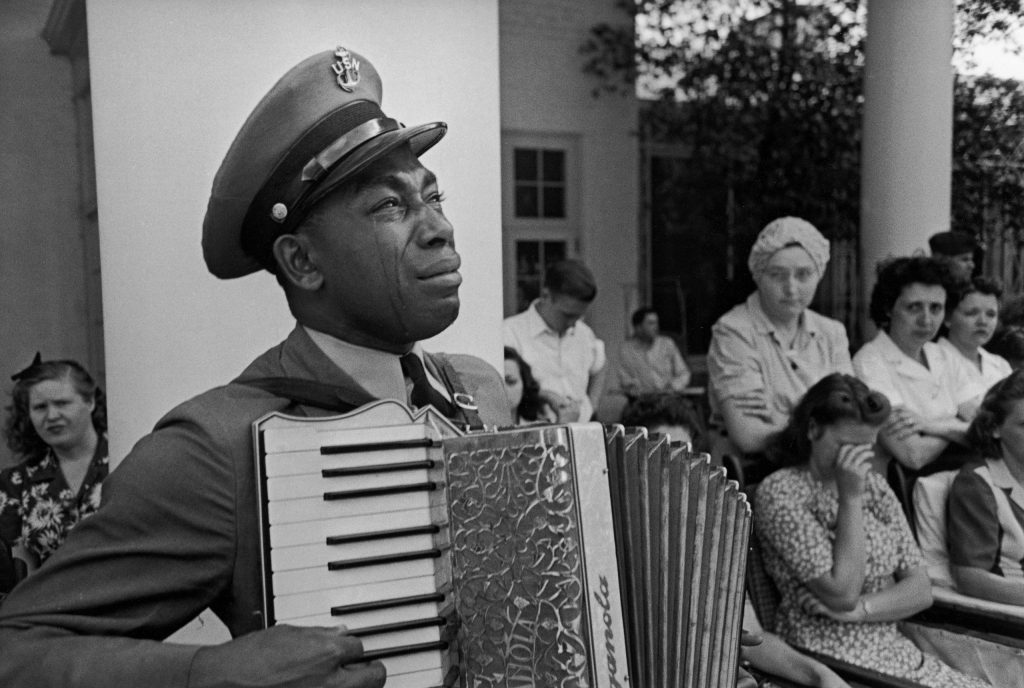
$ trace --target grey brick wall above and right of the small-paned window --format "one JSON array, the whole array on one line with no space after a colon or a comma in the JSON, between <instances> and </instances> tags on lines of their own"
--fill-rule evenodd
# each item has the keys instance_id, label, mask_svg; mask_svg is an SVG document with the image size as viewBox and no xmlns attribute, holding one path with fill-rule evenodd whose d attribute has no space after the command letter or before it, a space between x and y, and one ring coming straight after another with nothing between
<instances>
[{"instance_id":1,"label":"grey brick wall above and right of the small-paned window","mask_svg":"<svg viewBox=\"0 0 1024 688\"><path fill-rule=\"evenodd\" d=\"M597 278L587 322L609 356L614 387L618 348L638 304L639 162L637 99L595 98L580 47L602 22L630 25L615 0L503 0L502 126L508 131L578 136L581 157L580 258ZM606 399L606 401L608 401ZM620 411L598 408L602 420Z\"/></svg>"}]
</instances>

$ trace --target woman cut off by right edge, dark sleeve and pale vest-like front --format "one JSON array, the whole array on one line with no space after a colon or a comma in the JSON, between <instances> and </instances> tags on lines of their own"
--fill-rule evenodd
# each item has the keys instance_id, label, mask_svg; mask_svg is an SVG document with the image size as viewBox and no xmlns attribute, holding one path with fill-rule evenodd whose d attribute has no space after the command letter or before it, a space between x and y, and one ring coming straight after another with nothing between
<instances>
[{"instance_id":1,"label":"woman cut off by right edge, dark sleeve and pale vest-like front","mask_svg":"<svg viewBox=\"0 0 1024 688\"><path fill-rule=\"evenodd\" d=\"M993 386L968 430L984 460L949 488L946 543L959 592L1024 605L1024 371Z\"/></svg>"}]
</instances>

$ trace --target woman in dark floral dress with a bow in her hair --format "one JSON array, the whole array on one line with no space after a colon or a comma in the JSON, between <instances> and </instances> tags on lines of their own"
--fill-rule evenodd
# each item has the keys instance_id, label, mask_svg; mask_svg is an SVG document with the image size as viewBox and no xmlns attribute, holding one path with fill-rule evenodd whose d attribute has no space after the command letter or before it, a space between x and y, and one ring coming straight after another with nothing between
<instances>
[{"instance_id":1,"label":"woman in dark floral dress with a bow in her hair","mask_svg":"<svg viewBox=\"0 0 1024 688\"><path fill-rule=\"evenodd\" d=\"M4 435L22 462L0 471L0 538L34 568L99 508L106 407L102 390L74 360L36 354L12 378Z\"/></svg>"}]
</instances>

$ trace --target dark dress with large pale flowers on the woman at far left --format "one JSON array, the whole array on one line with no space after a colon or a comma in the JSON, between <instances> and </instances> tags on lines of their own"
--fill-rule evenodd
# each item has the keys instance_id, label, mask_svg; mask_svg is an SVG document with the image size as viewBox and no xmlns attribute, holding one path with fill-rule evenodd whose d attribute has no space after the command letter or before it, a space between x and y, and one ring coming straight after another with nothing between
<instances>
[{"instance_id":1,"label":"dark dress with large pale flowers on the woman at far left","mask_svg":"<svg viewBox=\"0 0 1024 688\"><path fill-rule=\"evenodd\" d=\"M78 493L65 479L57 458L47 451L0 471L0 539L22 545L42 564L68 531L99 508L109 472L106 440L99 439Z\"/></svg>"}]
</instances>

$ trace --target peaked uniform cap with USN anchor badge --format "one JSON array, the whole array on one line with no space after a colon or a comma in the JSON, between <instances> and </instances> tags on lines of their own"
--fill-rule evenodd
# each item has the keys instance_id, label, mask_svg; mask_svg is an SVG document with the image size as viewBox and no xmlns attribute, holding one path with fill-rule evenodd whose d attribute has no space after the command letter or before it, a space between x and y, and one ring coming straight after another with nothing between
<instances>
[{"instance_id":1,"label":"peaked uniform cap with USN anchor badge","mask_svg":"<svg viewBox=\"0 0 1024 688\"><path fill-rule=\"evenodd\" d=\"M273 242L374 161L408 143L421 155L447 125L406 127L381 111L381 79L339 47L292 68L242 125L213 180L203 257L218 277L274 270Z\"/></svg>"}]
</instances>

